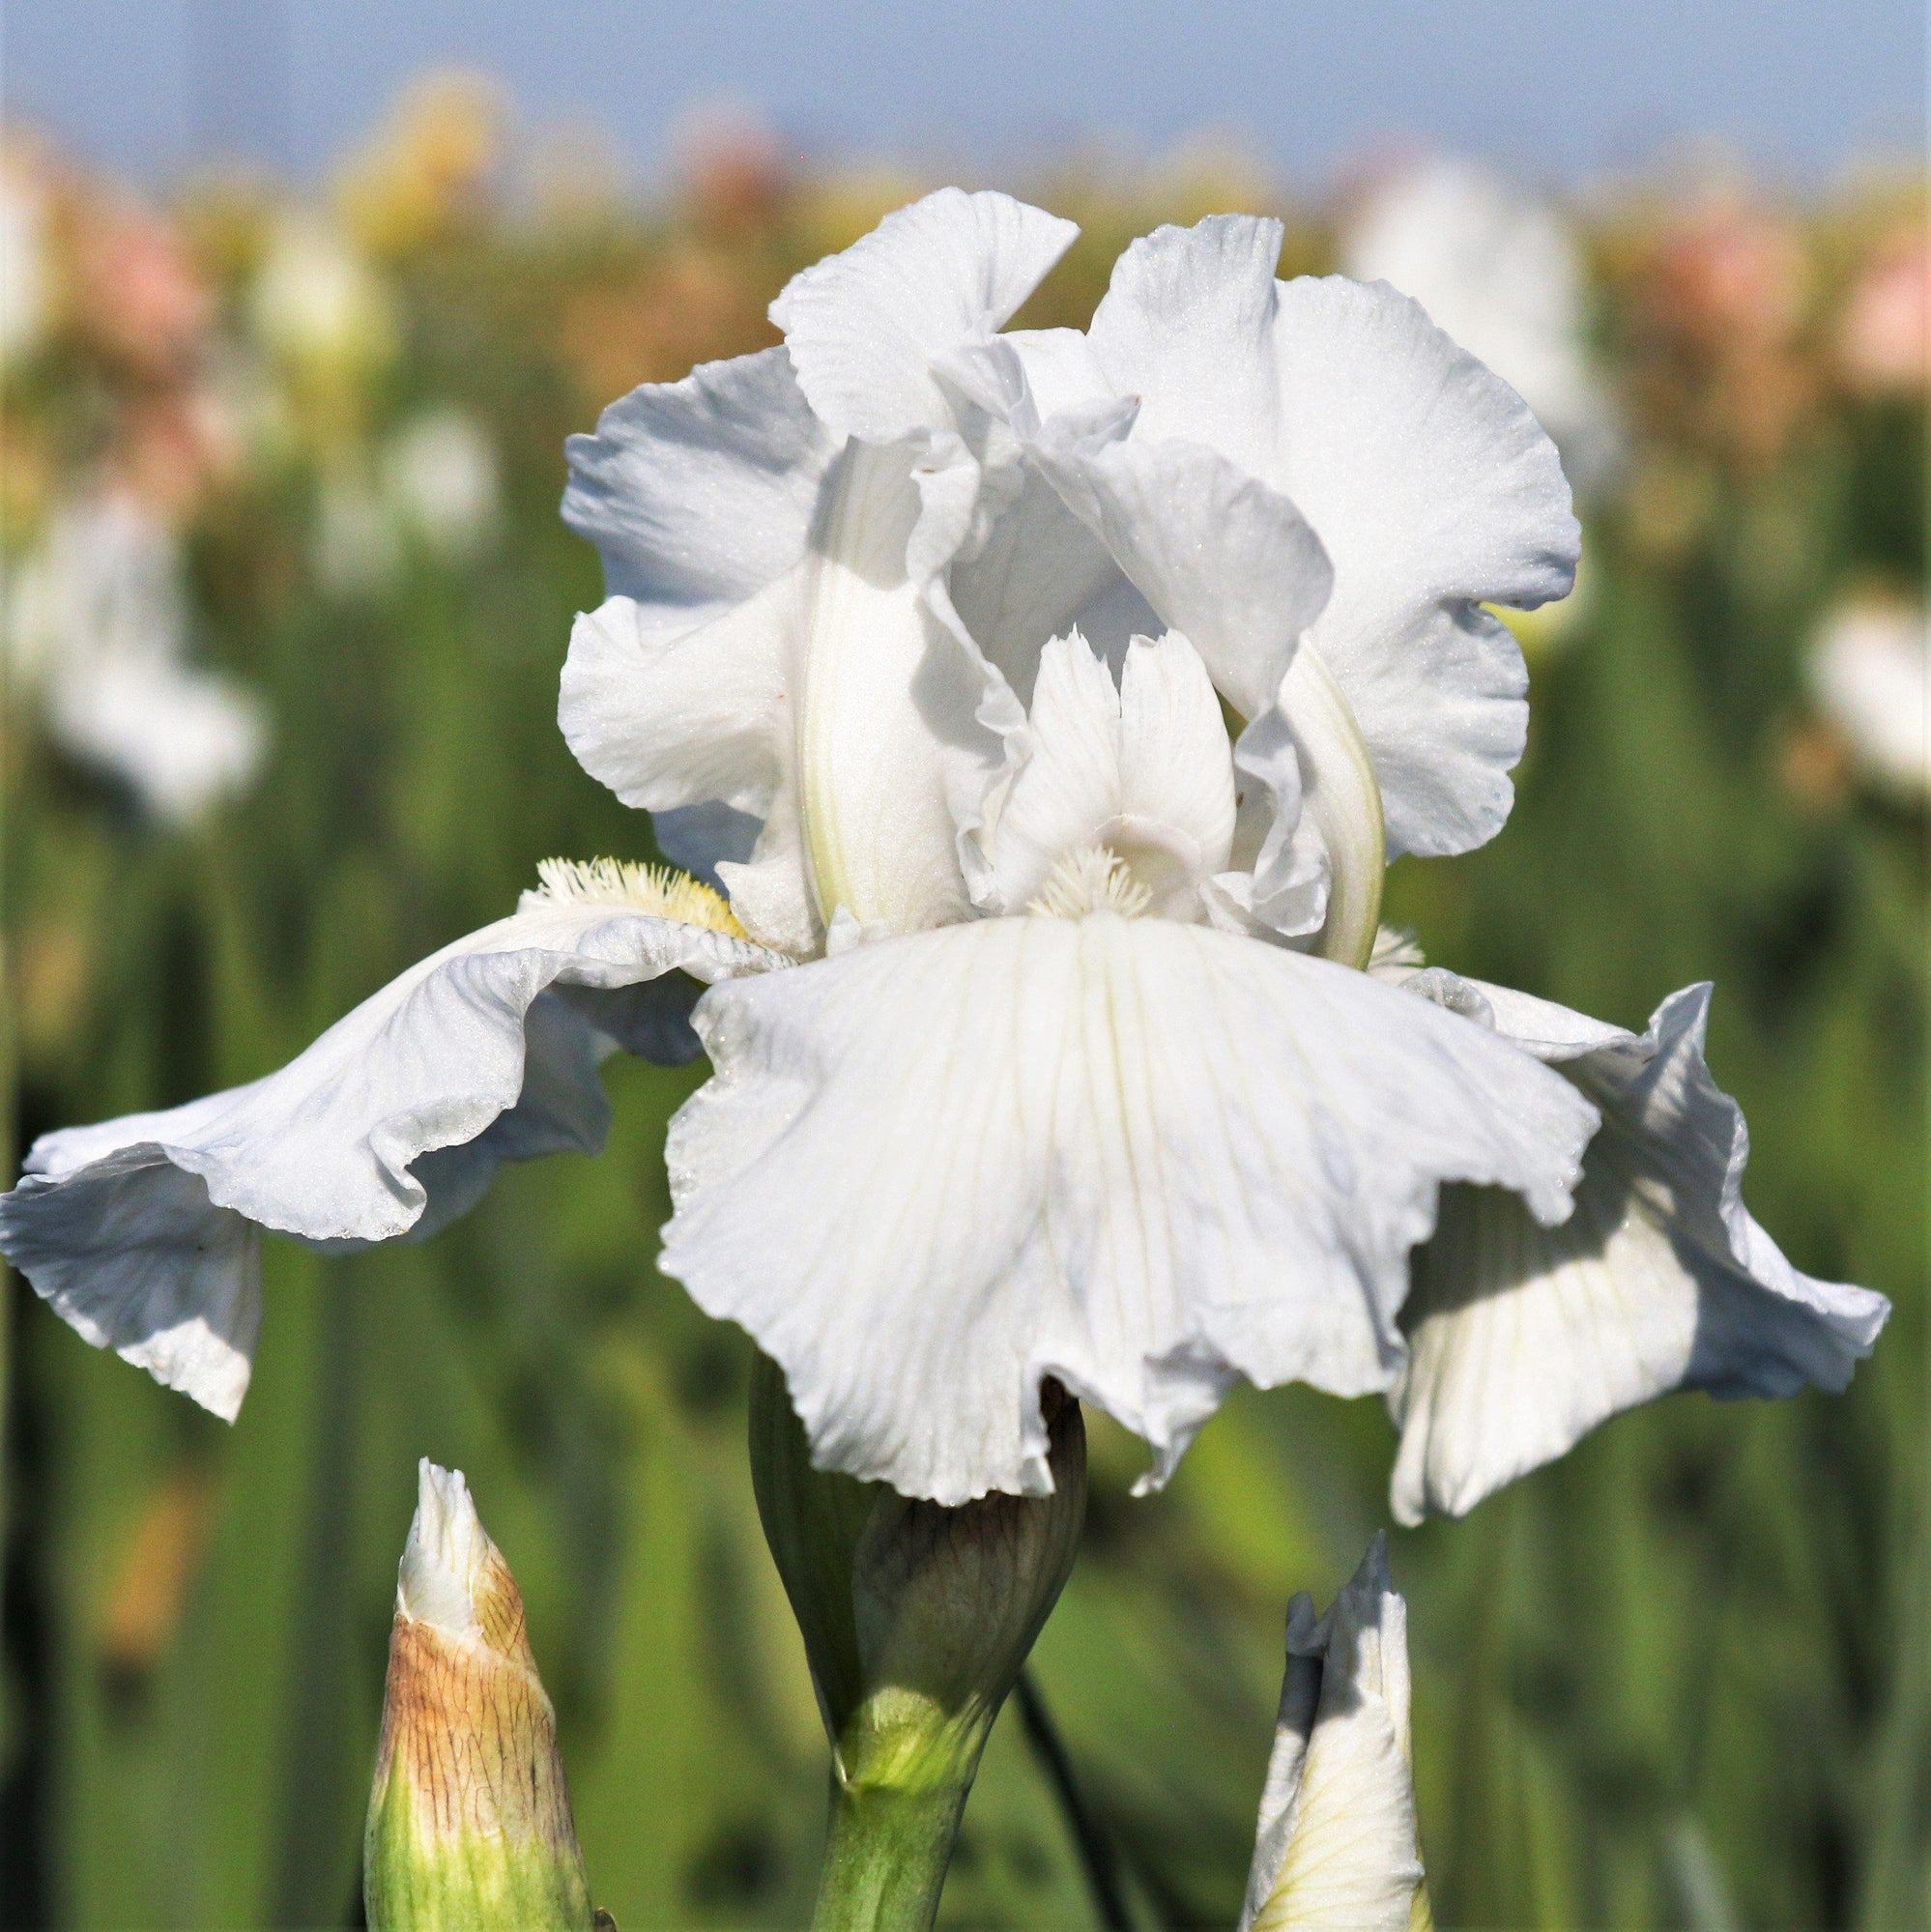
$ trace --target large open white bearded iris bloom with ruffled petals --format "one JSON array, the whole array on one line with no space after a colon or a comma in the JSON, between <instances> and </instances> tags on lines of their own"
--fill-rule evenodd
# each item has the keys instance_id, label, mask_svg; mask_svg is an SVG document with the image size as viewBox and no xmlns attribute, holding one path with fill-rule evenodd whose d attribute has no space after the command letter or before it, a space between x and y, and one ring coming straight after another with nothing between
<instances>
[{"instance_id":1,"label":"large open white bearded iris bloom with ruffled petals","mask_svg":"<svg viewBox=\"0 0 1931 1932\"><path fill-rule=\"evenodd\" d=\"M1525 404L1239 216L1007 330L1071 238L932 195L574 439L561 724L717 893L559 873L267 1082L48 1136L0 1231L68 1320L232 1412L257 1225L419 1233L591 1144L599 1043L704 981L663 1265L821 1466L1046 1493L1055 1379L1158 1484L1299 1378L1390 1397L1413 1515L1668 1387L1842 1385L1885 1304L1744 1211L1701 995L1637 1039L1380 939L1394 854L1508 815L1486 605L1571 582Z\"/></svg>"}]
</instances>

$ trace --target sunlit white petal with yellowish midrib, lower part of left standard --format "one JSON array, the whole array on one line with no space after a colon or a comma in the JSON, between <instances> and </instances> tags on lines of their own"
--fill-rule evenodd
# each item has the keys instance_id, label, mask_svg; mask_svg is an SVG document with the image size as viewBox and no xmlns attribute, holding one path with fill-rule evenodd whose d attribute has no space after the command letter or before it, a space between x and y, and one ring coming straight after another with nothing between
<instances>
[{"instance_id":1,"label":"sunlit white petal with yellowish midrib, lower part of left standard","mask_svg":"<svg viewBox=\"0 0 1931 1932\"><path fill-rule=\"evenodd\" d=\"M841 906L901 929L965 910L963 813L1019 707L943 599L980 468L957 437L852 444L794 568L690 628L613 597L578 618L559 723L584 769L655 813L760 823L750 860L704 854L760 941L814 951ZM675 827L673 827L675 837Z\"/></svg>"}]
</instances>

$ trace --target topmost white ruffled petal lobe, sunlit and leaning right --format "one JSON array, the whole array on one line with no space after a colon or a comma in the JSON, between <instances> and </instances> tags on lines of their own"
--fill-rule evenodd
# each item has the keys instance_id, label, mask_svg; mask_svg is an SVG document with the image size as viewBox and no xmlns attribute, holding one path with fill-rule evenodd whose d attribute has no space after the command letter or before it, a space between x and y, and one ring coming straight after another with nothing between
<instances>
[{"instance_id":1,"label":"topmost white ruffled petal lobe, sunlit and leaning right","mask_svg":"<svg viewBox=\"0 0 1931 1932\"><path fill-rule=\"evenodd\" d=\"M951 427L934 363L1003 328L1077 234L1011 195L941 187L794 274L771 321L839 435L891 442Z\"/></svg>"}]
</instances>

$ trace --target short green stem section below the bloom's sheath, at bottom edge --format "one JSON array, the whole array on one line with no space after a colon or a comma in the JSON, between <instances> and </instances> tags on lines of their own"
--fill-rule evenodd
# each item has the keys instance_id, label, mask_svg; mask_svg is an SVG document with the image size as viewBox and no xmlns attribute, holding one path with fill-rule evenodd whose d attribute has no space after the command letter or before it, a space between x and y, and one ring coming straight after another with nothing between
<instances>
[{"instance_id":1,"label":"short green stem section below the bloom's sheath, at bottom edge","mask_svg":"<svg viewBox=\"0 0 1931 1932\"><path fill-rule=\"evenodd\" d=\"M812 1932L928 1932L970 1789L835 1781Z\"/></svg>"}]
</instances>

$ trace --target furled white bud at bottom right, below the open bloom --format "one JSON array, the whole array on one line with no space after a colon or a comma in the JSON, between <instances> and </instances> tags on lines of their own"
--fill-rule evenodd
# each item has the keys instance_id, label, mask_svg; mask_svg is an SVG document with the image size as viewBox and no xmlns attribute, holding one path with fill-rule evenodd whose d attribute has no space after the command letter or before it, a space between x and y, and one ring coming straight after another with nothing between
<instances>
[{"instance_id":1,"label":"furled white bud at bottom right, below the open bloom","mask_svg":"<svg viewBox=\"0 0 1931 1932\"><path fill-rule=\"evenodd\" d=\"M1421 1932L1407 1604L1376 1536L1326 1617L1287 1605L1287 1673L1241 1932Z\"/></svg>"}]
</instances>

